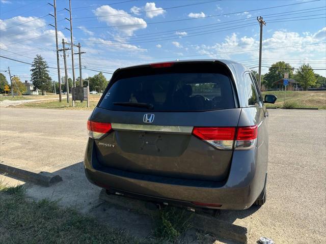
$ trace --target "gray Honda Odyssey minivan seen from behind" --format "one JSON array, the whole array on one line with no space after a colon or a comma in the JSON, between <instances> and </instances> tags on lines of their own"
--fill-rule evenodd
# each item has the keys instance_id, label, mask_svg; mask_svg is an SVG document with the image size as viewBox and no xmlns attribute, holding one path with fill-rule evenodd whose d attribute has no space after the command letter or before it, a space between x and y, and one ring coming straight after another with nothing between
<instances>
[{"instance_id":1,"label":"gray Honda Odyssey minivan seen from behind","mask_svg":"<svg viewBox=\"0 0 326 244\"><path fill-rule=\"evenodd\" d=\"M87 127L87 178L108 193L246 209L266 200L268 111L247 67L184 60L118 69Z\"/></svg>"}]
</instances>

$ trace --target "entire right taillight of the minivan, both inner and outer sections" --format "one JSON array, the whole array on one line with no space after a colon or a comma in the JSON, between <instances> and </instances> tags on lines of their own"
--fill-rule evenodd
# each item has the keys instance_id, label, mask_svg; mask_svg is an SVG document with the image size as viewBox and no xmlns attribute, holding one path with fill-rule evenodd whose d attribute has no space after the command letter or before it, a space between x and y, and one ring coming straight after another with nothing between
<instances>
[{"instance_id":1,"label":"entire right taillight of the minivan, both inner and outer sections","mask_svg":"<svg viewBox=\"0 0 326 244\"><path fill-rule=\"evenodd\" d=\"M258 127L194 127L193 135L220 150L248 150L256 145Z\"/></svg>"}]
</instances>

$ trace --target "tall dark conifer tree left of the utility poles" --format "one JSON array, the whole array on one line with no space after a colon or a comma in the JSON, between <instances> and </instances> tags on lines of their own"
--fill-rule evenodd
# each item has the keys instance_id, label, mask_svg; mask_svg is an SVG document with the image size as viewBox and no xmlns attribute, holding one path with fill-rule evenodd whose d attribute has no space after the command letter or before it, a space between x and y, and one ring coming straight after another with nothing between
<instances>
[{"instance_id":1,"label":"tall dark conifer tree left of the utility poles","mask_svg":"<svg viewBox=\"0 0 326 244\"><path fill-rule=\"evenodd\" d=\"M34 90L40 89L42 95L44 95L46 90L50 90L52 86L52 79L49 76L48 68L44 58L41 55L36 55L31 69L31 81L33 82Z\"/></svg>"}]
</instances>

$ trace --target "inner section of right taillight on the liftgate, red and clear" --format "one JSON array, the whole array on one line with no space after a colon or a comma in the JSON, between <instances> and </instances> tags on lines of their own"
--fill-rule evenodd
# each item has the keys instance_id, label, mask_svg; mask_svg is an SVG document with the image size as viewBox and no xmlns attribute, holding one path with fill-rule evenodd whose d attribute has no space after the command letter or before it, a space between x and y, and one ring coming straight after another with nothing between
<instances>
[{"instance_id":1,"label":"inner section of right taillight on the liftgate, red and clear","mask_svg":"<svg viewBox=\"0 0 326 244\"><path fill-rule=\"evenodd\" d=\"M220 150L232 150L234 127L194 127L193 135Z\"/></svg>"}]
</instances>

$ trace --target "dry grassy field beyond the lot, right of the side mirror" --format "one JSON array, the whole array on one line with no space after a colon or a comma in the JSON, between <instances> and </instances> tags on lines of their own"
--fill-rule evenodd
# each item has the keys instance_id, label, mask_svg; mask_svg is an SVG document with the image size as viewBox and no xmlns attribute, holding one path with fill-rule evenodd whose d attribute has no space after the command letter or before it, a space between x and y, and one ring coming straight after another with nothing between
<instances>
[{"instance_id":1,"label":"dry grassy field beyond the lot, right of the side mirror","mask_svg":"<svg viewBox=\"0 0 326 244\"><path fill-rule=\"evenodd\" d=\"M277 96L275 104L266 104L267 108L318 108L326 109L326 91L270 91L263 92ZM284 103L285 100L285 103Z\"/></svg>"}]
</instances>

